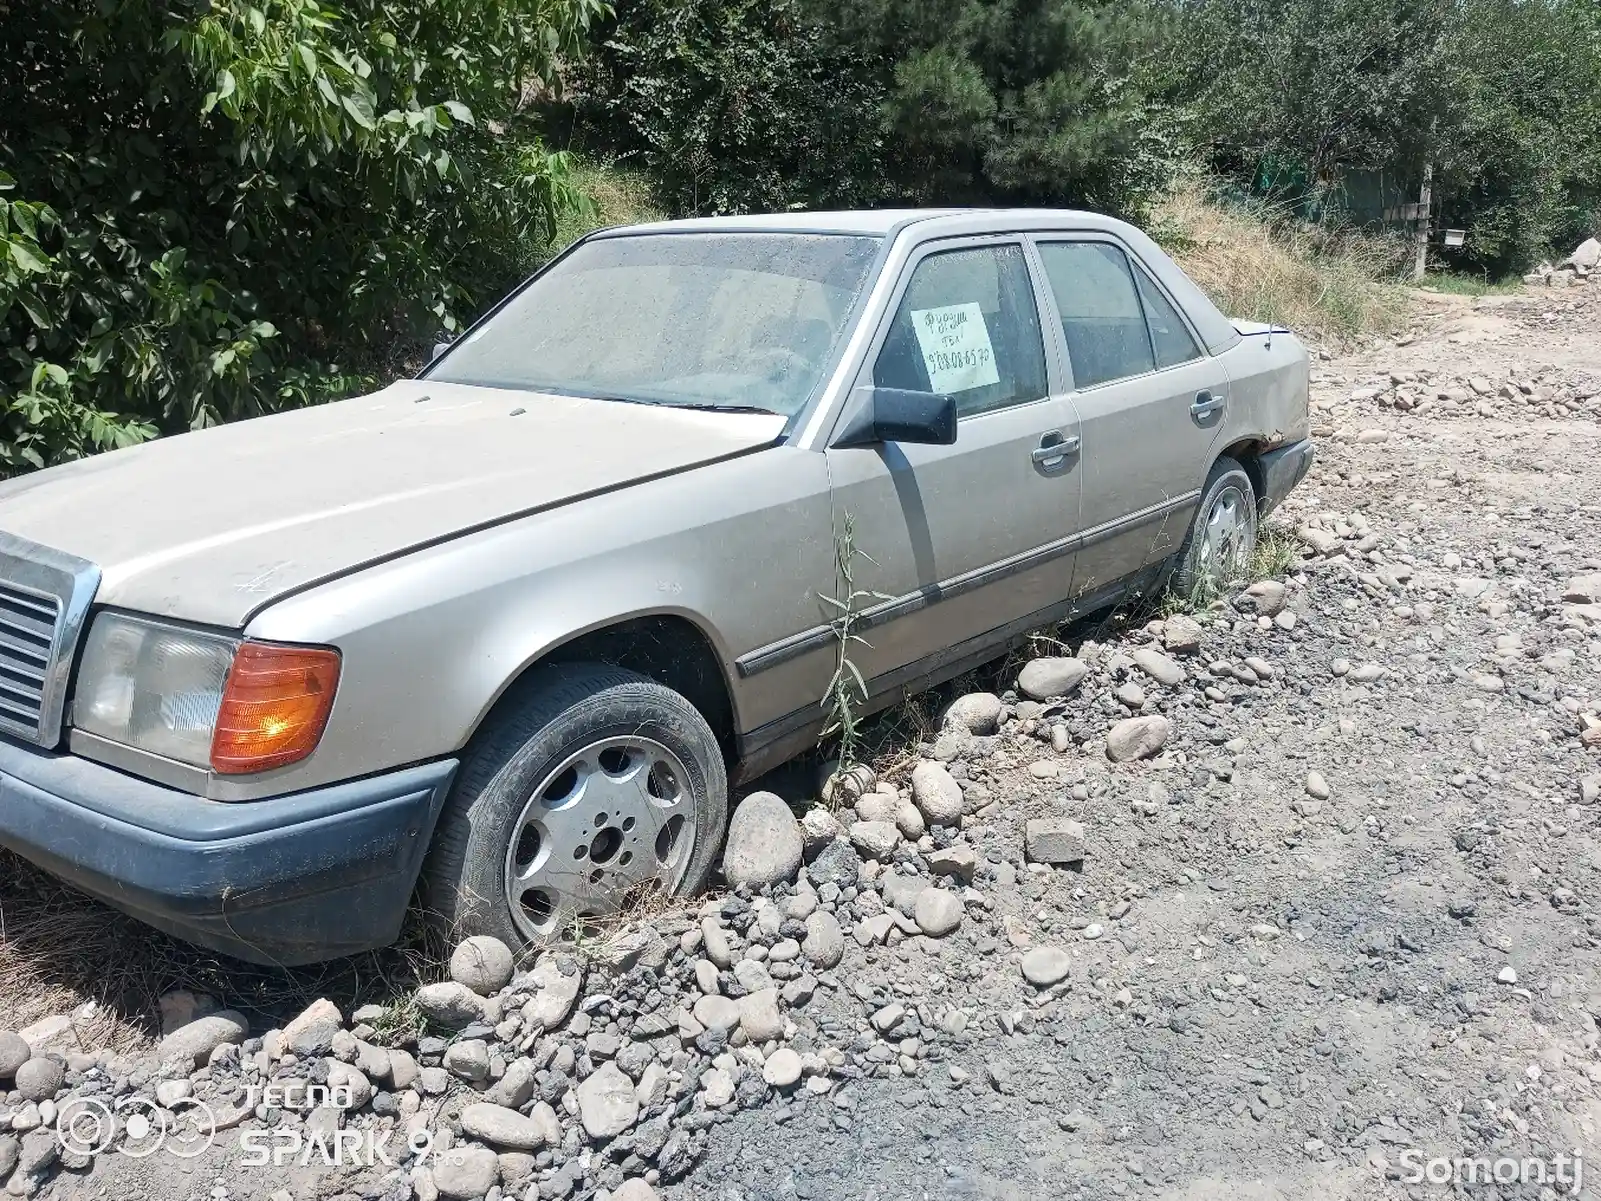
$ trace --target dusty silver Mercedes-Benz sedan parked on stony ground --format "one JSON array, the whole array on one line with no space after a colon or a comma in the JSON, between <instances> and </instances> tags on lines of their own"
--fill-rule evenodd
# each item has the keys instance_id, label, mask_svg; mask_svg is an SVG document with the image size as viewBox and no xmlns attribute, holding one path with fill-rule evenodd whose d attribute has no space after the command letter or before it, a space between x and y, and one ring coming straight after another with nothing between
<instances>
[{"instance_id":1,"label":"dusty silver Mercedes-Benz sedan parked on stony ground","mask_svg":"<svg viewBox=\"0 0 1601 1201\"><path fill-rule=\"evenodd\" d=\"M1305 476L1308 365L1090 213L592 234L416 380L0 485L0 844L264 962L413 889L517 943L712 871L861 709L1177 573Z\"/></svg>"}]
</instances>

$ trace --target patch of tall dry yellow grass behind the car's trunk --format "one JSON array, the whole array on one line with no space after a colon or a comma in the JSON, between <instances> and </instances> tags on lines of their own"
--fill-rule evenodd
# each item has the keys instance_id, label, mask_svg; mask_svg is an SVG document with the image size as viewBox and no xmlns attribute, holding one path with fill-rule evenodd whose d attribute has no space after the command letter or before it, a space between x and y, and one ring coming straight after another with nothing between
<instances>
[{"instance_id":1,"label":"patch of tall dry yellow grass behind the car's trunk","mask_svg":"<svg viewBox=\"0 0 1601 1201\"><path fill-rule=\"evenodd\" d=\"M1308 226L1270 203L1222 207L1199 184L1151 216L1153 237L1230 317L1337 341L1406 323L1406 251L1391 239Z\"/></svg>"}]
</instances>

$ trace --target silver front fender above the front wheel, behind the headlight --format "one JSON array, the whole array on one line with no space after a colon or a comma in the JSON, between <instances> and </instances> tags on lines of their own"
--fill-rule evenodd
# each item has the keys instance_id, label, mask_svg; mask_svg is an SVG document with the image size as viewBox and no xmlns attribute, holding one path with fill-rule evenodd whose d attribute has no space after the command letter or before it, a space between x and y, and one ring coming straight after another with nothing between
<instances>
[{"instance_id":1,"label":"silver front fender above the front wheel, behind the headlight","mask_svg":"<svg viewBox=\"0 0 1601 1201\"><path fill-rule=\"evenodd\" d=\"M482 530L288 597L251 637L344 657L317 751L229 797L309 788L459 751L508 687L575 637L645 615L693 623L736 730L821 697L828 647L752 679L735 658L828 620L823 455L772 450Z\"/></svg>"}]
</instances>

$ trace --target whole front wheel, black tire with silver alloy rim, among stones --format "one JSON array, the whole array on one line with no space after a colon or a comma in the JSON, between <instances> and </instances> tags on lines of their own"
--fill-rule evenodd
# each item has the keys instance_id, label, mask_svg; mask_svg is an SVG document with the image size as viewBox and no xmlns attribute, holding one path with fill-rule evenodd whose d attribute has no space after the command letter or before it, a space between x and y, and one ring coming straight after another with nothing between
<instances>
[{"instance_id":1,"label":"whole front wheel, black tire with silver alloy rim, among stones","mask_svg":"<svg viewBox=\"0 0 1601 1201\"><path fill-rule=\"evenodd\" d=\"M722 749L684 697L605 665L536 668L463 757L424 900L451 938L540 945L652 889L703 887L727 815Z\"/></svg>"}]
</instances>

